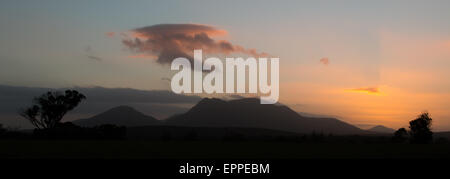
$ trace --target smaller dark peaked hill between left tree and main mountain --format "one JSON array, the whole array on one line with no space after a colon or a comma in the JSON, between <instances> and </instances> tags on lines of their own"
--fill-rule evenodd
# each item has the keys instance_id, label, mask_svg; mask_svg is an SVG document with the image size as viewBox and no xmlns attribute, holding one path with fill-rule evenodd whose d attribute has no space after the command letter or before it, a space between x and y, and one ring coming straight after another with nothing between
<instances>
[{"instance_id":1,"label":"smaller dark peaked hill between left tree and main mountain","mask_svg":"<svg viewBox=\"0 0 450 179\"><path fill-rule=\"evenodd\" d=\"M74 124L92 127L102 124L115 124L120 126L147 126L157 125L161 121L147 116L129 106L119 106L87 119L72 121Z\"/></svg>"}]
</instances>

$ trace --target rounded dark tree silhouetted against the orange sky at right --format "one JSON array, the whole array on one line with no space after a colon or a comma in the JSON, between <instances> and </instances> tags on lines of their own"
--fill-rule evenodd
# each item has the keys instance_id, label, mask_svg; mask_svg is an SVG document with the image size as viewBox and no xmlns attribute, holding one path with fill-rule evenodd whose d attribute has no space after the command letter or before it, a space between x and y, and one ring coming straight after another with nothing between
<instances>
[{"instance_id":1,"label":"rounded dark tree silhouetted against the orange sky at right","mask_svg":"<svg viewBox=\"0 0 450 179\"><path fill-rule=\"evenodd\" d=\"M430 129L431 121L428 112L424 112L409 122L412 143L429 143L433 140L433 132Z\"/></svg>"}]
</instances>

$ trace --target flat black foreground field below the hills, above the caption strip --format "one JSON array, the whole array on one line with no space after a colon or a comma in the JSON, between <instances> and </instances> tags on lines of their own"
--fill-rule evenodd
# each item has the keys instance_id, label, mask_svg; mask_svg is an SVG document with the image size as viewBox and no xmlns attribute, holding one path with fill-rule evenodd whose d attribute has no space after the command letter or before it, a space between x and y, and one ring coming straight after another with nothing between
<instances>
[{"instance_id":1,"label":"flat black foreground field below the hills, above the caption strip","mask_svg":"<svg viewBox=\"0 0 450 179\"><path fill-rule=\"evenodd\" d=\"M279 141L0 140L0 158L450 158L450 144L336 144Z\"/></svg>"}]
</instances>

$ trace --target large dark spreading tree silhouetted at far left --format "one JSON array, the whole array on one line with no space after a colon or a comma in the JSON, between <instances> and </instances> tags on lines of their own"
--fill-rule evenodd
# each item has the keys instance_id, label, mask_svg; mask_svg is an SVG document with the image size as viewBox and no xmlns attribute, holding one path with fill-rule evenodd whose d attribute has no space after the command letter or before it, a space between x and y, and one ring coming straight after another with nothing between
<instances>
[{"instance_id":1,"label":"large dark spreading tree silhouetted at far left","mask_svg":"<svg viewBox=\"0 0 450 179\"><path fill-rule=\"evenodd\" d=\"M86 97L76 90L66 90L64 94L49 91L35 98L32 106L23 109L20 115L37 129L51 129L84 99Z\"/></svg>"}]
</instances>

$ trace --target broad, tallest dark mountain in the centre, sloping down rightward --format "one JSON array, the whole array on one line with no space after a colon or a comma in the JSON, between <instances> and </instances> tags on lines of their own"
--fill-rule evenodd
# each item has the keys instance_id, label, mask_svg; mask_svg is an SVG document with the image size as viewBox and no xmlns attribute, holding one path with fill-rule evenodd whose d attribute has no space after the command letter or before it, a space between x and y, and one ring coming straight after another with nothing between
<instances>
[{"instance_id":1,"label":"broad, tallest dark mountain in the centre, sloping down rightward","mask_svg":"<svg viewBox=\"0 0 450 179\"><path fill-rule=\"evenodd\" d=\"M371 133L334 118L303 117L283 105L262 105L255 98L232 101L205 98L188 112L173 116L164 123L194 127L250 127L296 133Z\"/></svg>"}]
</instances>

